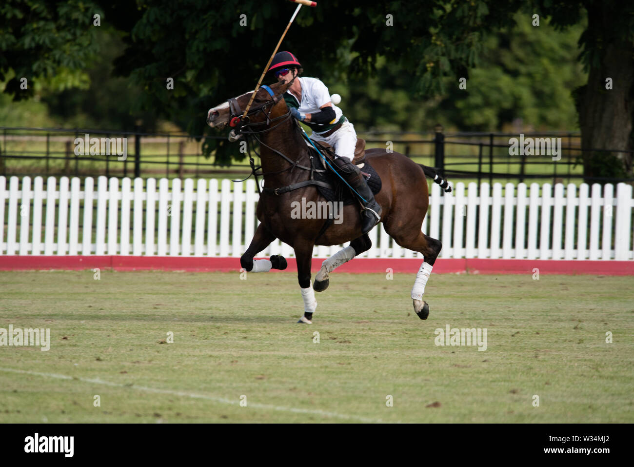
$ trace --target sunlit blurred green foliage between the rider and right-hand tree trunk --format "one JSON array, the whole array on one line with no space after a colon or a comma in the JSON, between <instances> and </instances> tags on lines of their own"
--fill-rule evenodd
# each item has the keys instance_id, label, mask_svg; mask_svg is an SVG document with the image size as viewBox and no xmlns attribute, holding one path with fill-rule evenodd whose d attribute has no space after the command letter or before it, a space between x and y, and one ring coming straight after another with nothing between
<instances>
[{"instance_id":1,"label":"sunlit blurred green foliage between the rider and right-hand tree trunk","mask_svg":"<svg viewBox=\"0 0 634 467\"><path fill-rule=\"evenodd\" d=\"M516 119L527 129L577 128L571 89L586 81L576 60L583 23L557 32L547 23L533 27L526 13L514 22L487 36L478 67L442 78L441 95L414 98L411 76L385 56L377 60L377 76L365 81L322 79L334 82L330 91L342 95L341 107L361 130L429 131L440 122L448 129L496 131ZM460 77L468 77L467 89L458 87Z\"/></svg>"}]
</instances>

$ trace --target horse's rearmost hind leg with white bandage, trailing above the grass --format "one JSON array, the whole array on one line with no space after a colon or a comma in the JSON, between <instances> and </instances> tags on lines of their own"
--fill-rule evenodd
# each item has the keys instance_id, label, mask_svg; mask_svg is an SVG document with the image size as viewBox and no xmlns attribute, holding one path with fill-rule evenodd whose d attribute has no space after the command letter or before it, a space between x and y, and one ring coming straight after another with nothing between
<instances>
[{"instance_id":1,"label":"horse's rearmost hind leg with white bandage, trailing above the grass","mask_svg":"<svg viewBox=\"0 0 634 467\"><path fill-rule=\"evenodd\" d=\"M423 255L423 263L420 265L414 285L411 287L411 299L414 305L414 312L420 319L425 320L429 316L429 304L423 299L425 285L443 244L441 244L440 240L432 239L432 237L423 234L420 230L418 230L417 235L397 235L394 240L400 246L418 251L418 253Z\"/></svg>"}]
</instances>

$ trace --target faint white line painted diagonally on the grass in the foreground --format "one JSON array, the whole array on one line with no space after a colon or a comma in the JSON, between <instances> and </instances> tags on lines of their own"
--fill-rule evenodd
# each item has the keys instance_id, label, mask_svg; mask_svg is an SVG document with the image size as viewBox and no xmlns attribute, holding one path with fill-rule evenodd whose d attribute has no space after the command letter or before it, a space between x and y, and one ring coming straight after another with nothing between
<instances>
[{"instance_id":1,"label":"faint white line painted diagonally on the grass in the foreground","mask_svg":"<svg viewBox=\"0 0 634 467\"><path fill-rule=\"evenodd\" d=\"M94 383L96 385L136 389L138 391L152 392L157 394L169 394L169 395L176 395L181 397L191 397L195 399L211 400L213 402L219 402L220 404L230 404L230 405L240 404L239 400L230 400L224 397L214 397L214 396L191 393L186 391L172 391L169 389L148 388L146 386L122 385L120 383L112 383L110 381L103 381L103 379L98 379L98 378L81 378L80 376L68 376L65 374L58 374L58 373L41 373L38 371L16 370L13 368L3 368L3 367L0 367L0 371L10 372L10 373L32 374L34 376L44 376L45 378L56 378L56 379L67 379L67 380L75 379L78 381L83 381L84 383ZM380 419L372 419L372 418L360 417L356 415L340 414L338 412L326 412L326 411L314 410L314 409L297 409L296 407L283 407L282 405L257 404L257 402L255 404L253 402L249 402L249 407L254 407L256 409L279 411L279 412L293 412L295 414L313 414L313 415L320 415L320 416L331 417L331 418L358 420L358 421L363 421L365 423L383 423Z\"/></svg>"}]
</instances>

